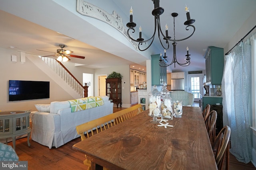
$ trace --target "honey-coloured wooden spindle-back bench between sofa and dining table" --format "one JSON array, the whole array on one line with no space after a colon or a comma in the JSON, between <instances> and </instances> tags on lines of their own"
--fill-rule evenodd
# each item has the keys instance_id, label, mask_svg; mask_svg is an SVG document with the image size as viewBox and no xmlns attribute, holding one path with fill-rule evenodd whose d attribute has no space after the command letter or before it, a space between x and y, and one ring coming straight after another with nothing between
<instances>
[{"instance_id":1,"label":"honey-coloured wooden spindle-back bench between sofa and dining table","mask_svg":"<svg viewBox=\"0 0 256 170\"><path fill-rule=\"evenodd\" d=\"M98 134L114 125L122 123L131 117L134 117L140 113L142 113L142 106L141 104L137 104L135 106L117 111L110 115L106 115L104 117L100 117L98 119L83 123L81 125L76 126L76 131L78 135L81 136L81 140L85 140L88 137L93 136L94 134ZM86 158L86 155L85 155ZM88 159L84 160L84 164L88 166L87 170L91 169L91 161ZM103 168L106 170L106 168Z\"/></svg>"}]
</instances>

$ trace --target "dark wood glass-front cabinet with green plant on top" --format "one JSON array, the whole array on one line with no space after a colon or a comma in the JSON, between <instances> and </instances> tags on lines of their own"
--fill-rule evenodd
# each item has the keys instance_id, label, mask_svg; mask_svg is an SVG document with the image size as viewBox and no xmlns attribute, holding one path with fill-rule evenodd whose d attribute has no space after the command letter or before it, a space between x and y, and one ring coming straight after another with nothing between
<instances>
[{"instance_id":1,"label":"dark wood glass-front cabinet with green plant on top","mask_svg":"<svg viewBox=\"0 0 256 170\"><path fill-rule=\"evenodd\" d=\"M120 104L122 107L122 79L121 78L106 78L106 96L112 100L116 107Z\"/></svg>"}]
</instances>

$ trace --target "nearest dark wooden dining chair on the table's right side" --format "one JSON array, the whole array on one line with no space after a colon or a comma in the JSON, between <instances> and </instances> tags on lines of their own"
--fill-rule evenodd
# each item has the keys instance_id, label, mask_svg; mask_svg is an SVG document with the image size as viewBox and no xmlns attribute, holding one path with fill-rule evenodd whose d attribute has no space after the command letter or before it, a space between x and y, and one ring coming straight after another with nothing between
<instances>
[{"instance_id":1,"label":"nearest dark wooden dining chair on the table's right side","mask_svg":"<svg viewBox=\"0 0 256 170\"><path fill-rule=\"evenodd\" d=\"M225 126L221 129L216 137L212 150L215 155L215 161L218 167L218 170L222 170L224 158L226 155L226 170L229 169L229 139L230 139L230 127Z\"/></svg>"}]
</instances>

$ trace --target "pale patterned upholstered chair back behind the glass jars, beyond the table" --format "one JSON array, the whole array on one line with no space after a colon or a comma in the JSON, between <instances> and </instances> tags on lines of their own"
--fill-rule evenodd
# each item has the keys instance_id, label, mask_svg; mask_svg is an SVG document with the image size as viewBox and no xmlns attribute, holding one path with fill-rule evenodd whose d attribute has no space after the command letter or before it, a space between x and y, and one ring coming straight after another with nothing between
<instances>
[{"instance_id":1,"label":"pale patterned upholstered chair back behind the glass jars, beyond the table","mask_svg":"<svg viewBox=\"0 0 256 170\"><path fill-rule=\"evenodd\" d=\"M172 101L181 101L183 106L192 106L194 95L183 90L176 90L170 93Z\"/></svg>"}]
</instances>

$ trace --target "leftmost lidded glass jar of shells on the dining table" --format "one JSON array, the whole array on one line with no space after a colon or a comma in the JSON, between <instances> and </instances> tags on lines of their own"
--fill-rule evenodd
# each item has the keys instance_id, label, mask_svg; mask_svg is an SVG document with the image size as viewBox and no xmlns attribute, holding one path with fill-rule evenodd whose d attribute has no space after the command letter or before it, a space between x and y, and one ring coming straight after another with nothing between
<instances>
[{"instance_id":1,"label":"leftmost lidded glass jar of shells on the dining table","mask_svg":"<svg viewBox=\"0 0 256 170\"><path fill-rule=\"evenodd\" d=\"M153 90L148 94L149 96L149 113L148 115L153 117L151 123L158 123L157 117L162 117L161 114L161 92L156 89L156 85L153 86Z\"/></svg>"}]
</instances>

